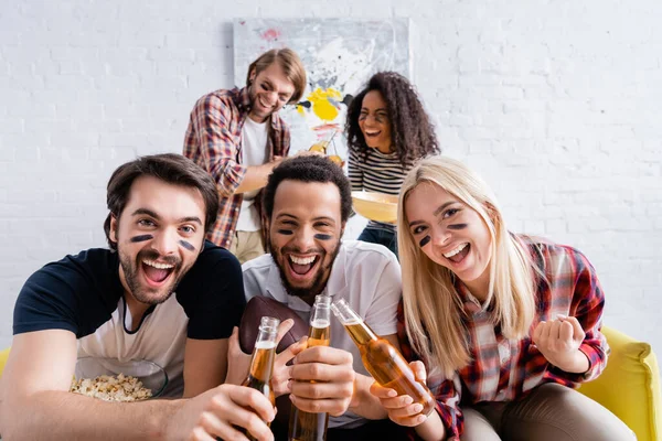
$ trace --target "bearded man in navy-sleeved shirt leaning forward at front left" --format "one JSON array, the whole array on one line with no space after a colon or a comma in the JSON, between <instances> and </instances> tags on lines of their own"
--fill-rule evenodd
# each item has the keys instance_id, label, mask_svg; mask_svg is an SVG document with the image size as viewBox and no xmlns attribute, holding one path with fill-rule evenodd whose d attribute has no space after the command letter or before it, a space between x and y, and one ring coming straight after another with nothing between
<instances>
[{"instance_id":1,"label":"bearded man in navy-sleeved shirt leaning forward at front left","mask_svg":"<svg viewBox=\"0 0 662 441\"><path fill-rule=\"evenodd\" d=\"M221 385L245 299L237 259L204 239L218 208L214 181L182 155L143 157L113 173L107 204L110 249L49 263L19 294L0 383L4 439L233 438L236 426L273 439L270 402ZM169 377L163 395L189 399L70 394L79 357L153 362Z\"/></svg>"}]
</instances>

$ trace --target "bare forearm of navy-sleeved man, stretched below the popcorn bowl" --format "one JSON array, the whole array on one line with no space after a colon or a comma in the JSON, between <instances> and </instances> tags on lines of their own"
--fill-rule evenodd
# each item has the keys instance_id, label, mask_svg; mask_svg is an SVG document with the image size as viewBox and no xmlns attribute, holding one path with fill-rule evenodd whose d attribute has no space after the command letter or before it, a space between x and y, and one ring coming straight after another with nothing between
<instances>
[{"instance_id":1,"label":"bare forearm of navy-sleeved man, stretched below the popcorn bowl","mask_svg":"<svg viewBox=\"0 0 662 441\"><path fill-rule=\"evenodd\" d=\"M183 400L107 402L42 391L2 406L2 438L14 440L164 440Z\"/></svg>"}]
</instances>

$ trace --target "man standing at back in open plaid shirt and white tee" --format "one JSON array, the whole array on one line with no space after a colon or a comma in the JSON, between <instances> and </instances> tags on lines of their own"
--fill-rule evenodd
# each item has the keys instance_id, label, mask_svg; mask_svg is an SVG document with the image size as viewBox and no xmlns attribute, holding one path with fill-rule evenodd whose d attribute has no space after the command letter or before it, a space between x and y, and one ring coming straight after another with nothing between
<instances>
[{"instance_id":1,"label":"man standing at back in open plaid shirt and white tee","mask_svg":"<svg viewBox=\"0 0 662 441\"><path fill-rule=\"evenodd\" d=\"M289 49L261 54L250 66L246 87L220 89L195 103L184 139L184 155L206 170L221 194L218 217L207 239L241 262L265 252L265 218L259 190L290 147L278 116L306 88L306 71Z\"/></svg>"}]
</instances>

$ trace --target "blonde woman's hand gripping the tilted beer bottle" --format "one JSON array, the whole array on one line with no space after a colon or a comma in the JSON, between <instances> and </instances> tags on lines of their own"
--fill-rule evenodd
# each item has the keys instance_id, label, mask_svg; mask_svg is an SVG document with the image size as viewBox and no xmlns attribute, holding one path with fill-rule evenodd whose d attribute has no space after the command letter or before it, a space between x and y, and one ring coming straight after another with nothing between
<instances>
[{"instance_id":1,"label":"blonde woman's hand gripping the tilted beer bottle","mask_svg":"<svg viewBox=\"0 0 662 441\"><path fill-rule=\"evenodd\" d=\"M414 370L416 380L425 384L427 376L425 365L421 362L412 362L409 366ZM414 398L408 395L398 396L395 389L382 387L377 381L372 384L370 392L380 399L382 407L388 412L388 418L396 424L416 427L427 419L420 413L423 405L414 402Z\"/></svg>"}]
</instances>

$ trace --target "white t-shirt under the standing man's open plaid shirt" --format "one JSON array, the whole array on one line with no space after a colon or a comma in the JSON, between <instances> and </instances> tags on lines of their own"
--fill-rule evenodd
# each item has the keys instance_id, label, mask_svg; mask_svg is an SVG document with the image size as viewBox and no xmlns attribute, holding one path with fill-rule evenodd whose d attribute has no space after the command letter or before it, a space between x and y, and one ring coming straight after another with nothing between
<instances>
[{"instance_id":1,"label":"white t-shirt under the standing man's open plaid shirt","mask_svg":"<svg viewBox=\"0 0 662 441\"><path fill-rule=\"evenodd\" d=\"M255 122L247 117L242 128L242 162L244 165L261 165L267 160L267 139L269 136L269 121ZM254 206L255 196L259 190L244 193L237 232L258 232L260 228L259 214Z\"/></svg>"}]
</instances>

